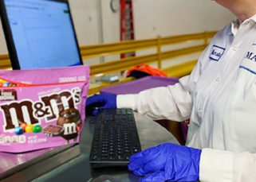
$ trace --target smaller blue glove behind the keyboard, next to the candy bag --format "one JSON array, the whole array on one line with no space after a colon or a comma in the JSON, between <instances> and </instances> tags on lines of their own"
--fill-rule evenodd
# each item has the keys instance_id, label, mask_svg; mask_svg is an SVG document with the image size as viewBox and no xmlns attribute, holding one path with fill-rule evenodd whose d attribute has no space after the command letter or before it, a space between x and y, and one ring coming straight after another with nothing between
<instances>
[{"instance_id":1,"label":"smaller blue glove behind the keyboard, next to the candy bag","mask_svg":"<svg viewBox=\"0 0 256 182\"><path fill-rule=\"evenodd\" d=\"M98 109L116 109L116 95L112 94L100 94L93 95L86 100L86 112L93 115L98 114Z\"/></svg>"}]
</instances>

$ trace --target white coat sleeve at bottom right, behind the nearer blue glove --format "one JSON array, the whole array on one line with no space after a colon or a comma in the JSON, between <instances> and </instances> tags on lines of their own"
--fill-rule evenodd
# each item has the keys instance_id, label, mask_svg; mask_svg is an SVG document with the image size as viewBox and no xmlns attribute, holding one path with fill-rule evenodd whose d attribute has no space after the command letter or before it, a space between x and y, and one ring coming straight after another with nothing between
<instances>
[{"instance_id":1,"label":"white coat sleeve at bottom right, behind the nearer blue glove","mask_svg":"<svg viewBox=\"0 0 256 182\"><path fill-rule=\"evenodd\" d=\"M232 153L203 149L200 158L199 180L205 182L254 182L256 153Z\"/></svg>"}]
</instances>

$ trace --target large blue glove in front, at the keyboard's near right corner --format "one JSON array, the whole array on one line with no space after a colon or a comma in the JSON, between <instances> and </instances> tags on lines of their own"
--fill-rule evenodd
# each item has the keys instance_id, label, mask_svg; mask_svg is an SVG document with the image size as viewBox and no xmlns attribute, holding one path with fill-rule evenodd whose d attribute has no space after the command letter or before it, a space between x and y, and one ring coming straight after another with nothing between
<instances>
[{"instance_id":1,"label":"large blue glove in front, at the keyboard's near right corner","mask_svg":"<svg viewBox=\"0 0 256 182\"><path fill-rule=\"evenodd\" d=\"M128 169L136 176L149 181L196 181L199 180L200 149L165 143L130 157Z\"/></svg>"}]
</instances>

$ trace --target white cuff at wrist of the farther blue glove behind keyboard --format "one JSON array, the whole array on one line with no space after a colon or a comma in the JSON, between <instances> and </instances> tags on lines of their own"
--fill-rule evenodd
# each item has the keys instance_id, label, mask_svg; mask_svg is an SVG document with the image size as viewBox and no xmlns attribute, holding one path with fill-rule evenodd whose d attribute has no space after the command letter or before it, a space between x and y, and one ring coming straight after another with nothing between
<instances>
[{"instance_id":1,"label":"white cuff at wrist of the farther blue glove behind keyboard","mask_svg":"<svg viewBox=\"0 0 256 182\"><path fill-rule=\"evenodd\" d=\"M136 95L117 95L116 96L116 107L117 108L132 108L136 110Z\"/></svg>"}]
</instances>

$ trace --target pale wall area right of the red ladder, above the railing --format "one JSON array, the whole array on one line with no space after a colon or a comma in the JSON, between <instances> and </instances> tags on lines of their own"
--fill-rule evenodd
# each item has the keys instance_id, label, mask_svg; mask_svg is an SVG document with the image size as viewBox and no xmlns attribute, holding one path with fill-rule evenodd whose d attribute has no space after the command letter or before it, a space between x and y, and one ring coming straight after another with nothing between
<instances>
[{"instance_id":1,"label":"pale wall area right of the red ladder, above the railing","mask_svg":"<svg viewBox=\"0 0 256 182\"><path fill-rule=\"evenodd\" d=\"M136 38L219 30L234 16L210 0L133 0Z\"/></svg>"}]
</instances>

